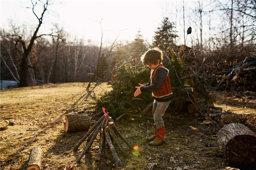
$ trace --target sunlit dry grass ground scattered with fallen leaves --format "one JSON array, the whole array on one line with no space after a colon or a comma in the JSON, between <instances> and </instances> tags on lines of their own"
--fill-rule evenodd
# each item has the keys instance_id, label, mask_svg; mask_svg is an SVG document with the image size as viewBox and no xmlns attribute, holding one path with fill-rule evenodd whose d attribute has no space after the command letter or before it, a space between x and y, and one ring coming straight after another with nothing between
<instances>
[{"instance_id":1,"label":"sunlit dry grass ground scattered with fallen leaves","mask_svg":"<svg viewBox=\"0 0 256 170\"><path fill-rule=\"evenodd\" d=\"M85 88L83 83L68 83L1 91L1 169L25 169L29 152L34 146L43 150L42 169L112 169L114 160L108 147L106 155L103 155L99 162L95 161L99 136L89 152L76 163L86 144L83 143L76 152L73 147L86 132L64 131L66 110L86 92ZM111 88L107 84L95 88L83 106L95 105L95 99L104 93L103 89ZM245 125L256 132L256 114L252 108L255 104L254 98L249 95L242 99L223 91L217 91L213 95L214 105L222 107L224 111L231 110L244 115L251 113ZM92 109L93 112L95 111ZM151 110L148 110L148 117L151 116L150 112ZM13 122L13 126L7 126L9 121ZM92 126L97 118L92 117L91 121ZM124 158L119 149L116 149L124 162L123 166L116 169L217 170L230 166L216 144L219 129L209 124L200 124L203 120L189 115L186 108L176 111L169 107L164 121L165 144L150 146L145 137L153 134L151 119L138 122L134 118L124 116L119 121L114 120L117 129L129 143L139 147L139 150L130 150L120 139L129 156ZM3 127L6 129L2 130Z\"/></svg>"}]
</instances>

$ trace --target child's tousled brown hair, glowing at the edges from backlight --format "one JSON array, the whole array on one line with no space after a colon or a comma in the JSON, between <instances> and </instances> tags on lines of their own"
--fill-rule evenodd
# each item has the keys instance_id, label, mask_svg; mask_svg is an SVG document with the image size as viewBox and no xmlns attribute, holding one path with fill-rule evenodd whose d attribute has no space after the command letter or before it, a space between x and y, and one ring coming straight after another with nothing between
<instances>
[{"instance_id":1,"label":"child's tousled brown hair, glowing at the edges from backlight","mask_svg":"<svg viewBox=\"0 0 256 170\"><path fill-rule=\"evenodd\" d=\"M141 61L145 66L148 66L149 63L157 65L157 60L160 61L159 64L163 60L163 52L157 47L149 48L141 57Z\"/></svg>"}]
</instances>

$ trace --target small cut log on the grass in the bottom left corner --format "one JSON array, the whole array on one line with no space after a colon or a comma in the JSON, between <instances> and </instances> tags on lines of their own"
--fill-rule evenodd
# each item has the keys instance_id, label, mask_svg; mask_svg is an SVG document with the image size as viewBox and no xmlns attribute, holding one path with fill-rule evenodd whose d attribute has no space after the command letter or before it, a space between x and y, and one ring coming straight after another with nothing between
<instances>
[{"instance_id":1,"label":"small cut log on the grass in the bottom left corner","mask_svg":"<svg viewBox=\"0 0 256 170\"><path fill-rule=\"evenodd\" d=\"M41 166L42 149L35 146L31 149L28 157L28 166L26 170L39 170Z\"/></svg>"}]
</instances>

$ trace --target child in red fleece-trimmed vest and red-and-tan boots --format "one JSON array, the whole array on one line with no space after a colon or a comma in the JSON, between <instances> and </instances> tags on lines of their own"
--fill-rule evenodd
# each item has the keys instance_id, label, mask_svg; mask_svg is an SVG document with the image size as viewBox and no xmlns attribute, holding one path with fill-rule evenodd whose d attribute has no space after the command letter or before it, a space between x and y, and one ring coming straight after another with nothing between
<instances>
[{"instance_id":1,"label":"child in red fleece-trimmed vest and red-and-tan boots","mask_svg":"<svg viewBox=\"0 0 256 170\"><path fill-rule=\"evenodd\" d=\"M152 137L147 137L146 140L150 145L159 145L165 142L164 139L164 112L172 100L172 88L170 84L169 70L161 63L163 53L159 48L150 48L144 55L141 61L145 66L151 69L149 82L145 85L139 83L140 87L134 93L134 97L142 92L152 92L154 98L153 117L155 134Z\"/></svg>"}]
</instances>

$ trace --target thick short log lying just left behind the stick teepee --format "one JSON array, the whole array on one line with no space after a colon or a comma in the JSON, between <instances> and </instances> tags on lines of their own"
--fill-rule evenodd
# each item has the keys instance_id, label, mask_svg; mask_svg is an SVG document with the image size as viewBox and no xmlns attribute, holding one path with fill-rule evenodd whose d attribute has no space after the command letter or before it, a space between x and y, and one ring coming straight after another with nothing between
<instances>
[{"instance_id":1,"label":"thick short log lying just left behind the stick teepee","mask_svg":"<svg viewBox=\"0 0 256 170\"><path fill-rule=\"evenodd\" d=\"M90 117L87 114L68 114L65 115L65 132L79 132L90 128Z\"/></svg>"}]
</instances>

